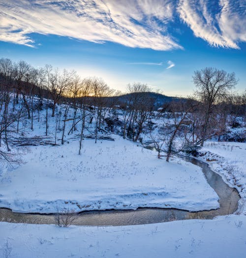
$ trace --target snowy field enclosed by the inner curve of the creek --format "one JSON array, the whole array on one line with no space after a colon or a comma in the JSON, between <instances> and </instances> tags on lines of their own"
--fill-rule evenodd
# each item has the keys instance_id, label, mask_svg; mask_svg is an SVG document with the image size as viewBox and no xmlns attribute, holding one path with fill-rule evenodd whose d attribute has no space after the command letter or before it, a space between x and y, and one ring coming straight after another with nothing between
<instances>
[{"instance_id":1,"label":"snowy field enclosed by the inner curve of the creek","mask_svg":"<svg viewBox=\"0 0 246 258\"><path fill-rule=\"evenodd\" d=\"M115 141L84 140L60 146L29 147L24 164L0 177L0 207L17 212L52 213L179 208L215 209L218 196L201 168L156 153L114 135Z\"/></svg>"}]
</instances>

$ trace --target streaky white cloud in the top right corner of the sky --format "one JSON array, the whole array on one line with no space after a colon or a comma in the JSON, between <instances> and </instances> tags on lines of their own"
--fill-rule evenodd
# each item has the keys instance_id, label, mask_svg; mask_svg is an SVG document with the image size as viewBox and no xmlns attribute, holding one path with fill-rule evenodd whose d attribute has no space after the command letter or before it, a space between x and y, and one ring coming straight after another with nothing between
<instances>
[{"instance_id":1,"label":"streaky white cloud in the top right corner of the sky","mask_svg":"<svg viewBox=\"0 0 246 258\"><path fill-rule=\"evenodd\" d=\"M246 1L220 0L215 13L216 2L180 0L178 12L195 36L212 46L239 49L238 42L246 41Z\"/></svg>"}]
</instances>

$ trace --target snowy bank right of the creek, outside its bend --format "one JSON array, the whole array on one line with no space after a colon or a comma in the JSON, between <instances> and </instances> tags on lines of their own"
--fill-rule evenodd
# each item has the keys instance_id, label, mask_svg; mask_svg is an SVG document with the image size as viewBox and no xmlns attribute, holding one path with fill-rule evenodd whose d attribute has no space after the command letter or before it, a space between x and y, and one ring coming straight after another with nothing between
<instances>
[{"instance_id":1,"label":"snowy bank right of the creek, outside its bend","mask_svg":"<svg viewBox=\"0 0 246 258\"><path fill-rule=\"evenodd\" d=\"M207 141L201 153L201 158L239 191L239 212L246 214L246 143Z\"/></svg>"}]
</instances>

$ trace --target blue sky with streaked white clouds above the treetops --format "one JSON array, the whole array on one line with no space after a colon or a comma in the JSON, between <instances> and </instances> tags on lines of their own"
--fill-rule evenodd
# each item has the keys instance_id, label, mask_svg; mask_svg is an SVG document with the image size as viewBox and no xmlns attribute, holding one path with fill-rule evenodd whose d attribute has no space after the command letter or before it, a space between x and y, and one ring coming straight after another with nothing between
<instances>
[{"instance_id":1,"label":"blue sky with streaked white clouds above the treetops","mask_svg":"<svg viewBox=\"0 0 246 258\"><path fill-rule=\"evenodd\" d=\"M245 12L244 0L0 0L0 57L168 96L191 94L194 70L212 66L234 71L242 92Z\"/></svg>"}]
</instances>

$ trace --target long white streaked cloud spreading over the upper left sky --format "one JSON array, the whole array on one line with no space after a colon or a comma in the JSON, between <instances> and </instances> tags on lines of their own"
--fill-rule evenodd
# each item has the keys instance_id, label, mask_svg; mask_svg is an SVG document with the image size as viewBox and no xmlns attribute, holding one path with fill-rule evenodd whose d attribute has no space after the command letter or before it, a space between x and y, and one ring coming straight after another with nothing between
<instances>
[{"instance_id":1,"label":"long white streaked cloud spreading over the upper left sky","mask_svg":"<svg viewBox=\"0 0 246 258\"><path fill-rule=\"evenodd\" d=\"M173 16L171 2L0 0L0 40L30 46L30 33L37 32L155 50L182 48L166 32L165 23Z\"/></svg>"}]
</instances>

